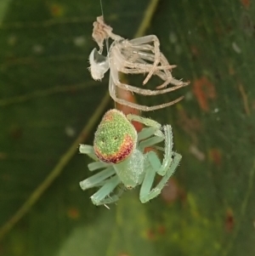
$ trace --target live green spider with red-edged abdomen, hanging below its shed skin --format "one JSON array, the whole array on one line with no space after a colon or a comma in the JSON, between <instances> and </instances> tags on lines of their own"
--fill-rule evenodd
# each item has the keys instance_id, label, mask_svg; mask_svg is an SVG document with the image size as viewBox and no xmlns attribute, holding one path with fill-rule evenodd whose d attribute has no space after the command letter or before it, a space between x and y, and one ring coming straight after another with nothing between
<instances>
[{"instance_id":1,"label":"live green spider with red-edged abdomen, hanging below its shed skin","mask_svg":"<svg viewBox=\"0 0 255 256\"><path fill-rule=\"evenodd\" d=\"M132 121L143 123L139 133ZM165 148L156 146L165 141ZM164 151L162 162L155 151L144 152L146 147ZM88 164L90 171L103 168L98 174L80 182L82 190L99 187L91 200L95 205L105 205L119 200L122 190L141 185L139 199L149 202L161 193L167 180L178 167L182 156L172 151L173 134L170 125L149 118L127 115L122 111L110 110L105 113L94 135L94 146L80 145L80 152L87 154L94 162ZM156 174L162 176L161 181L151 189Z\"/></svg>"}]
</instances>

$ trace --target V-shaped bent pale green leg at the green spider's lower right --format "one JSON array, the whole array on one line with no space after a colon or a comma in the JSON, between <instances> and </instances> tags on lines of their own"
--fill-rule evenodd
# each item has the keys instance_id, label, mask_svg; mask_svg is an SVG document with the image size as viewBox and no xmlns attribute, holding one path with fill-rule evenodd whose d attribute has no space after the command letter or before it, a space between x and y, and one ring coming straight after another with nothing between
<instances>
[{"instance_id":1,"label":"V-shaped bent pale green leg at the green spider's lower right","mask_svg":"<svg viewBox=\"0 0 255 256\"><path fill-rule=\"evenodd\" d=\"M182 156L180 156L178 153L173 152L173 161L171 162L170 167L166 170L166 174L162 177L161 181L156 185L156 187L151 190L156 176L156 168L158 168L160 161L155 152L150 151L148 155L150 165L148 164L148 168L146 169L146 174L144 176L139 194L140 201L143 203L149 202L151 199L160 195L161 190L167 184L168 179L170 179L170 177L173 175L175 169L178 167L178 163L182 158ZM157 160L155 161L155 159Z\"/></svg>"}]
</instances>

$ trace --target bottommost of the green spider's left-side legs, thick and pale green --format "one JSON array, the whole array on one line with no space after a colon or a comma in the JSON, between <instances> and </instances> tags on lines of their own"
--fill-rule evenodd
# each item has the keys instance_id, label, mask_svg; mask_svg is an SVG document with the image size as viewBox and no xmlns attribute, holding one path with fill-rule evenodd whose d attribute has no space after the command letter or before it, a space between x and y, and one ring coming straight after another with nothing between
<instances>
[{"instance_id":1,"label":"bottommost of the green spider's left-side legs, thick and pale green","mask_svg":"<svg viewBox=\"0 0 255 256\"><path fill-rule=\"evenodd\" d=\"M107 182L105 182L105 185L103 185L99 189L99 191L97 191L96 193L94 193L93 196L90 197L94 205L102 205L116 202L117 200L119 200L118 195L110 196L110 194L116 189L116 186L119 185L120 182L121 180L117 175L107 180ZM107 196L108 198L106 198Z\"/></svg>"}]
</instances>

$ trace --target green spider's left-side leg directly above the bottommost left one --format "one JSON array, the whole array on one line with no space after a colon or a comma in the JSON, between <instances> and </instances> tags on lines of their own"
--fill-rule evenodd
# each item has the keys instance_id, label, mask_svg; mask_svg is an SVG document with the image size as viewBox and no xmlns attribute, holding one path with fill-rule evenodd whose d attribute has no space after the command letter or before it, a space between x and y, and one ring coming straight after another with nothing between
<instances>
[{"instance_id":1,"label":"green spider's left-side leg directly above the bottommost left one","mask_svg":"<svg viewBox=\"0 0 255 256\"><path fill-rule=\"evenodd\" d=\"M102 181L111 177L111 175L115 174L115 170L113 167L106 168L105 170L99 172L98 174L94 174L88 179L84 179L80 182L80 186L83 191L88 190L89 188L93 188L94 186L98 186Z\"/></svg>"}]
</instances>

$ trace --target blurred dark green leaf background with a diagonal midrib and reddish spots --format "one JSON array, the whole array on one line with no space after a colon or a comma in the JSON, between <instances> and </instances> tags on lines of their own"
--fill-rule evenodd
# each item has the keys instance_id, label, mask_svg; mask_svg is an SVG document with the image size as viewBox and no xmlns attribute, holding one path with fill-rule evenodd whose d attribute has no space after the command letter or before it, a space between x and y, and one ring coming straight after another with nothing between
<instances>
[{"instance_id":1,"label":"blurred dark green leaf background with a diagonal midrib and reddish spots","mask_svg":"<svg viewBox=\"0 0 255 256\"><path fill-rule=\"evenodd\" d=\"M255 2L102 2L116 34L133 38L144 24L178 65L173 76L191 81L137 98L184 94L144 114L173 125L181 165L150 203L135 190L94 207L78 185L90 160L77 145L92 144L113 107L108 77L87 70L99 1L1 0L0 255L254 255Z\"/></svg>"}]
</instances>

